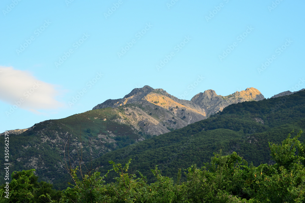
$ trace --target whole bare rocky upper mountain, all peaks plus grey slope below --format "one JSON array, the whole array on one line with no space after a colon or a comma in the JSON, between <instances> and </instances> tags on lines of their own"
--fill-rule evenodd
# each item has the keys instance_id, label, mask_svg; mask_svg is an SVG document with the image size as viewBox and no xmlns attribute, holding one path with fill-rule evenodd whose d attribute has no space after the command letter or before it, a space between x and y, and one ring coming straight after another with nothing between
<instances>
[{"instance_id":1,"label":"whole bare rocky upper mountain, all peaks plus grey slope below","mask_svg":"<svg viewBox=\"0 0 305 203\"><path fill-rule=\"evenodd\" d=\"M206 119L232 103L253 100L259 101L263 99L265 99L265 97L260 91L253 87L240 92L236 91L228 96L217 95L214 90L210 89L195 95L189 101L180 100L163 89L153 89L150 86L144 86L143 88L133 89L131 93L124 96L123 99L106 100L95 106L92 110L107 107L126 107L128 104L131 106L140 105L141 107L149 108L149 111L147 110L146 114L143 111L139 112L139 108L136 107L133 107L130 110L124 110L127 113L126 116L128 119L130 121L135 121L133 124L138 122L140 126L142 125L146 134L160 135L168 132L169 128L178 129L196 121ZM162 114L156 113L156 110L153 109L155 106L157 106L155 109L163 111ZM171 112L172 114L166 114L166 112ZM155 117L149 116L147 113L154 114ZM128 114L131 115L128 116ZM178 118L174 118L172 115ZM143 126L143 122L146 124L146 127ZM164 124L167 128L163 127ZM135 125L134 128L137 128L137 126Z\"/></svg>"}]
</instances>

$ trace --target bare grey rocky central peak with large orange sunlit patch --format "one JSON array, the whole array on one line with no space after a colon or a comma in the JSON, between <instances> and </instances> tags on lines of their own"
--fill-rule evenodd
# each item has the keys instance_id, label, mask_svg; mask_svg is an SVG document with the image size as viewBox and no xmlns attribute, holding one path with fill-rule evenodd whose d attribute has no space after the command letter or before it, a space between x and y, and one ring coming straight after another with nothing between
<instances>
[{"instance_id":1,"label":"bare grey rocky central peak with large orange sunlit patch","mask_svg":"<svg viewBox=\"0 0 305 203\"><path fill-rule=\"evenodd\" d=\"M160 135L207 118L198 105L149 86L133 89L123 99L106 100L92 110L107 107L124 110L126 119L117 122L128 123L149 135Z\"/></svg>"}]
</instances>

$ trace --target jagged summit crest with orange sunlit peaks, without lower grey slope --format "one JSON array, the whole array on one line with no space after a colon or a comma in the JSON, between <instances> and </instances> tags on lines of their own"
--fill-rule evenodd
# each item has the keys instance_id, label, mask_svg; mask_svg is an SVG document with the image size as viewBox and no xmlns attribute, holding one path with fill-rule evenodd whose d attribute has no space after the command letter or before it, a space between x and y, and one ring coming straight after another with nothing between
<instances>
[{"instance_id":1,"label":"jagged summit crest with orange sunlit peaks, without lower grey slope","mask_svg":"<svg viewBox=\"0 0 305 203\"><path fill-rule=\"evenodd\" d=\"M251 87L240 92L236 91L228 96L217 95L213 89L209 89L203 93L196 94L190 101L188 101L180 100L163 89L153 89L146 85L142 88L133 89L122 99L106 100L105 102L95 106L92 110L106 107L115 108L129 103L135 104L149 102L167 110L174 107L185 108L195 114L201 114L206 117L207 115L223 110L224 107L227 107L232 103L253 100L259 101L263 99L265 99L265 97L260 93L260 91Z\"/></svg>"}]
</instances>

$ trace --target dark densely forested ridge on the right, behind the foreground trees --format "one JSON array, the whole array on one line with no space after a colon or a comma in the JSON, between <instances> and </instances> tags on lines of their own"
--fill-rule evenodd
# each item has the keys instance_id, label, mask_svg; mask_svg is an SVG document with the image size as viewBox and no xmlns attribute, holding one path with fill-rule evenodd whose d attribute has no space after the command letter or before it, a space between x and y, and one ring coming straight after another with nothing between
<instances>
[{"instance_id":1,"label":"dark densely forested ridge on the right, behind the foreground trees","mask_svg":"<svg viewBox=\"0 0 305 203\"><path fill-rule=\"evenodd\" d=\"M156 165L162 175L175 177L178 168L203 166L220 149L223 155L235 151L255 166L271 164L274 161L268 142L280 143L292 130L304 128L305 91L300 91L285 99L231 104L205 120L104 154L93 161L93 166L99 166L101 174L105 174L112 168L109 160L123 164L132 159L131 171L139 170L148 182L153 182L150 169ZM300 141L304 140L302 136ZM113 181L112 178L109 175L106 180Z\"/></svg>"}]
</instances>

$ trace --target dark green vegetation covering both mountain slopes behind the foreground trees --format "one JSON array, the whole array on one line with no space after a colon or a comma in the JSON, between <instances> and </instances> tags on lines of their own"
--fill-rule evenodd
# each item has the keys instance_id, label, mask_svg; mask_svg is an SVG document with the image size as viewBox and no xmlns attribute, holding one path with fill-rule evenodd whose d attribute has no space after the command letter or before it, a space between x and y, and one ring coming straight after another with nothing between
<instances>
[{"instance_id":1,"label":"dark green vegetation covering both mountain slopes behind the foreground trees","mask_svg":"<svg viewBox=\"0 0 305 203\"><path fill-rule=\"evenodd\" d=\"M253 167L262 163L274 164L268 141L279 144L292 129L305 128L305 91L289 97L232 104L222 112L184 128L174 130L173 126L167 127L171 132L159 136L145 135L143 126L135 130L113 122L121 119L119 113L124 117L127 107L129 110L138 108L128 104L118 109L87 111L64 119L44 121L20 135L10 135L10 171L35 168L39 181L52 180L54 188L63 190L69 181L69 173L61 164L63 150L76 160L81 144L82 161L92 169L99 167L101 174L112 169L109 160L127 163L132 159L129 168L133 172L141 171L148 184L157 180L151 173L156 165L163 176L172 177L176 182L178 168L184 171L195 164L198 168L203 167L203 163L209 162L213 153L220 149L223 156L236 152L248 163L253 162ZM156 116L155 108L145 110L152 112L153 117ZM165 122L162 124L167 126ZM140 135L145 140L135 141ZM303 142L304 138L300 137L300 141ZM3 144L0 142L0 148L4 147ZM65 144L70 145L69 152ZM4 170L0 174L4 177ZM114 177L115 174L109 173L103 180L110 183ZM181 173L181 181L187 178ZM0 181L4 183L4 179Z\"/></svg>"}]
</instances>

